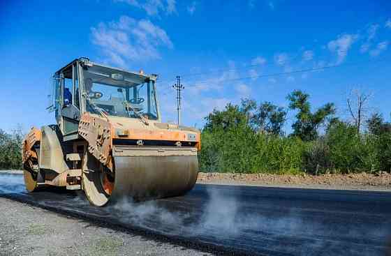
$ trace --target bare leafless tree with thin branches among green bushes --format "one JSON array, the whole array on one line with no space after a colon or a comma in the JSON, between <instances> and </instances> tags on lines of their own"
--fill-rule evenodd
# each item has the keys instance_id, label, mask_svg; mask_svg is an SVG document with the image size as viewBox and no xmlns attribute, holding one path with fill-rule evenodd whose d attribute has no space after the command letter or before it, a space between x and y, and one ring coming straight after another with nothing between
<instances>
[{"instance_id":1,"label":"bare leafless tree with thin branches among green bushes","mask_svg":"<svg viewBox=\"0 0 391 256\"><path fill-rule=\"evenodd\" d=\"M353 119L353 123L357 129L357 133L360 133L362 123L364 122L367 114L367 104L371 98L371 93L364 93L358 89L351 91L350 96L346 99L348 104L348 112Z\"/></svg>"}]
</instances>

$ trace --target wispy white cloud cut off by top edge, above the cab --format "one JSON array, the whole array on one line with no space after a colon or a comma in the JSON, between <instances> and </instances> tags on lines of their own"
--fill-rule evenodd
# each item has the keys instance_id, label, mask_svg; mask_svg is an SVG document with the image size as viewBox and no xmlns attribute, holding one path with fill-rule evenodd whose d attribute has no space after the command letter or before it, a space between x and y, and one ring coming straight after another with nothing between
<instances>
[{"instance_id":1,"label":"wispy white cloud cut off by top edge, above the cab","mask_svg":"<svg viewBox=\"0 0 391 256\"><path fill-rule=\"evenodd\" d=\"M163 12L167 15L176 13L175 0L114 0L128 3L130 6L144 9L147 15L155 16Z\"/></svg>"}]
</instances>

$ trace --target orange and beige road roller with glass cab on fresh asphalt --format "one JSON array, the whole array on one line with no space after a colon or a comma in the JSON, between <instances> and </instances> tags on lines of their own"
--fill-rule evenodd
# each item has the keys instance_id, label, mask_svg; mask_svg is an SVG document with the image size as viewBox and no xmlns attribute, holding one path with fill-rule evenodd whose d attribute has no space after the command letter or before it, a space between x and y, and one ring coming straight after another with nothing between
<instances>
[{"instance_id":1,"label":"orange and beige road roller with glass cab on fresh asphalt","mask_svg":"<svg viewBox=\"0 0 391 256\"><path fill-rule=\"evenodd\" d=\"M94 206L175 197L198 177L200 130L161 121L158 76L75 59L52 76L56 124L22 144L28 192L83 190Z\"/></svg>"}]
</instances>

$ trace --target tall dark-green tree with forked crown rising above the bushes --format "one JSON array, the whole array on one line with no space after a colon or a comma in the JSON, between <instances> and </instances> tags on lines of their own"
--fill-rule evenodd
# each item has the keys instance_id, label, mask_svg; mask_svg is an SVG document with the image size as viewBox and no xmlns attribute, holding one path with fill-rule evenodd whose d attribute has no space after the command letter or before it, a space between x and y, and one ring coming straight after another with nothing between
<instances>
[{"instance_id":1,"label":"tall dark-green tree with forked crown rising above the bushes","mask_svg":"<svg viewBox=\"0 0 391 256\"><path fill-rule=\"evenodd\" d=\"M290 101L290 110L298 111L296 121L292 125L293 135L304 141L315 140L318 137L318 128L325 123L327 118L335 114L333 103L327 103L312 113L309 94L300 90L290 93L287 99Z\"/></svg>"}]
</instances>

